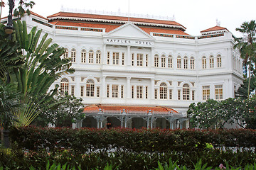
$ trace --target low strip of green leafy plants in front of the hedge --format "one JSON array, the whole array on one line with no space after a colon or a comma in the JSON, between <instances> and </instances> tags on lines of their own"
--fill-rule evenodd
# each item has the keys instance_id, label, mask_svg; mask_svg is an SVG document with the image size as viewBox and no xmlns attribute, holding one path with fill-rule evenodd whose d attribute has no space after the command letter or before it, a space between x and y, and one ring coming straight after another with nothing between
<instances>
[{"instance_id":1,"label":"low strip of green leafy plants in front of the hedge","mask_svg":"<svg viewBox=\"0 0 256 170\"><path fill-rule=\"evenodd\" d=\"M240 159L246 157L247 159ZM256 155L252 152L207 151L148 154L132 152L91 152L77 154L59 152L23 152L21 149L0 149L0 167L4 169L255 169ZM172 161L175 160L175 161ZM161 164L162 162L162 164ZM208 166L206 166L206 164ZM212 168L213 169L213 168Z\"/></svg>"}]
</instances>

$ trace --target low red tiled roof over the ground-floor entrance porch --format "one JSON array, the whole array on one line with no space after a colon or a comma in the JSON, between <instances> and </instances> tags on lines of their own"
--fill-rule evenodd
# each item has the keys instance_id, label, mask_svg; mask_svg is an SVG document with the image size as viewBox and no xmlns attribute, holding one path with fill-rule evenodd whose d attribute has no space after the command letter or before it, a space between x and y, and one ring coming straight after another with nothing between
<instances>
[{"instance_id":1,"label":"low red tiled roof over the ground-floor entrance porch","mask_svg":"<svg viewBox=\"0 0 256 170\"><path fill-rule=\"evenodd\" d=\"M167 107L161 107L161 106L102 106L102 105L90 105L86 106L84 108L85 112L88 111L98 111L98 109L101 108L102 111L122 111L125 109L126 111L139 111L142 112L144 111L153 111L153 112L166 112L166 113L178 113L172 108L167 108Z\"/></svg>"}]
</instances>

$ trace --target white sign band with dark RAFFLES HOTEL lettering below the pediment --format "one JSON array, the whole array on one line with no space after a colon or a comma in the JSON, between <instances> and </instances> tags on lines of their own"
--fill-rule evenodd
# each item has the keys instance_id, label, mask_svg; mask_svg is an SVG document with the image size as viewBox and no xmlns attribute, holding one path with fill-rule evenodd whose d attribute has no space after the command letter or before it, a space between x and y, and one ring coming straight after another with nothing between
<instances>
[{"instance_id":1,"label":"white sign band with dark RAFFLES HOTEL lettering below the pediment","mask_svg":"<svg viewBox=\"0 0 256 170\"><path fill-rule=\"evenodd\" d=\"M153 47L154 41L152 40L129 40L129 39L118 39L118 38L105 38L105 44L110 45L131 45L131 46L142 46L142 47Z\"/></svg>"}]
</instances>

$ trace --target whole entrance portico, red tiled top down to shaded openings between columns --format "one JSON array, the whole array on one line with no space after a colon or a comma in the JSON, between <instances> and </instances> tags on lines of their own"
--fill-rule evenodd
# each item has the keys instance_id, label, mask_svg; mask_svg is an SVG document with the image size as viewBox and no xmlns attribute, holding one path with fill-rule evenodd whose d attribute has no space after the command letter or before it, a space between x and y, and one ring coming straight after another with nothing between
<instances>
[{"instance_id":1,"label":"whole entrance portico, red tiled top down to shaded openings between columns","mask_svg":"<svg viewBox=\"0 0 256 170\"><path fill-rule=\"evenodd\" d=\"M88 120L95 119L95 128L186 128L186 114L167 107L101 106L85 107L83 127L92 127ZM118 121L119 120L119 121Z\"/></svg>"}]
</instances>

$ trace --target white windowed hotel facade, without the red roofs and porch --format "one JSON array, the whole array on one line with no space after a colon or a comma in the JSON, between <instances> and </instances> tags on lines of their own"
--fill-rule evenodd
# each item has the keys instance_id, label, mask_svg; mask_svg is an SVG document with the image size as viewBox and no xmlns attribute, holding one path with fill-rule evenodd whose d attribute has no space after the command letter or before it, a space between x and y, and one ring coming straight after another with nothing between
<instances>
[{"instance_id":1,"label":"white windowed hotel facade, without the red roofs and porch","mask_svg":"<svg viewBox=\"0 0 256 170\"><path fill-rule=\"evenodd\" d=\"M228 30L199 36L149 34L127 22L106 33L105 28L59 29L34 15L24 19L74 58L75 73L63 79L68 94L81 97L85 105L166 106L186 113L193 102L234 97L242 83L242 60Z\"/></svg>"}]
</instances>

